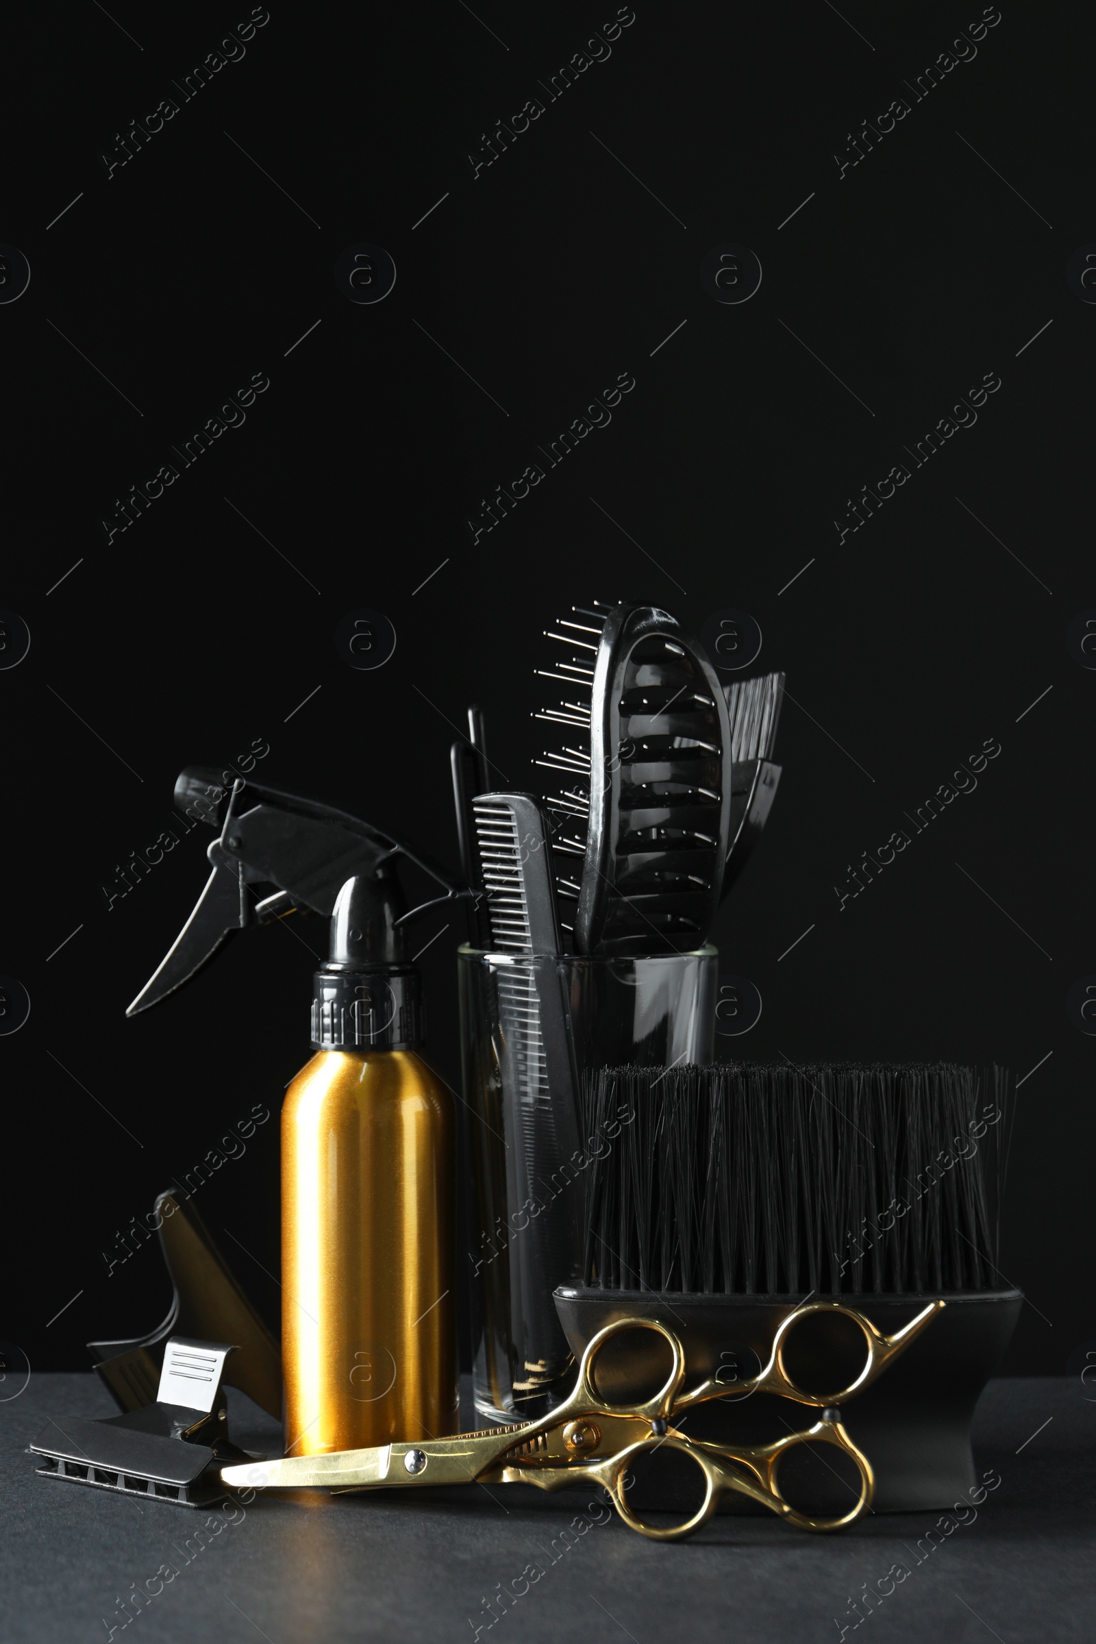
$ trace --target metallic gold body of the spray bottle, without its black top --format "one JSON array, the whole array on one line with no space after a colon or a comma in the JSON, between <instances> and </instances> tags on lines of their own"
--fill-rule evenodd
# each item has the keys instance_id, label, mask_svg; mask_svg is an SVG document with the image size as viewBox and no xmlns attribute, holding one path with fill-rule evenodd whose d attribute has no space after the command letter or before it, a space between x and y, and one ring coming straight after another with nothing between
<instances>
[{"instance_id":1,"label":"metallic gold body of the spray bottle, without its black top","mask_svg":"<svg viewBox=\"0 0 1096 1644\"><path fill-rule=\"evenodd\" d=\"M457 1432L454 1116L412 1051L322 1051L281 1118L286 1455Z\"/></svg>"}]
</instances>

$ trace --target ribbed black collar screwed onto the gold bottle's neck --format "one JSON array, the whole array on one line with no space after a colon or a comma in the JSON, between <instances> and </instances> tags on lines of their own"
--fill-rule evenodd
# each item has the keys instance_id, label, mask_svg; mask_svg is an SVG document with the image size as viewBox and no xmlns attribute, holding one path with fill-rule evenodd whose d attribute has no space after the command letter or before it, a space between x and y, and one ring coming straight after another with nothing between
<instances>
[{"instance_id":1,"label":"ribbed black collar screwed onto the gold bottle's neck","mask_svg":"<svg viewBox=\"0 0 1096 1644\"><path fill-rule=\"evenodd\" d=\"M416 1051L424 1039L416 970L324 965L312 977L314 1051Z\"/></svg>"}]
</instances>

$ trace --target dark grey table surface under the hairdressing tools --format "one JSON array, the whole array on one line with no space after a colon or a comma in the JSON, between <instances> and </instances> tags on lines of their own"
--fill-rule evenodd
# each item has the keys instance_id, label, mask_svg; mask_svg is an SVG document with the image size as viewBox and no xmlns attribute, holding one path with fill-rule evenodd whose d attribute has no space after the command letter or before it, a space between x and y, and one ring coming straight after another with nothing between
<instances>
[{"instance_id":1,"label":"dark grey table surface under the hairdressing tools","mask_svg":"<svg viewBox=\"0 0 1096 1644\"><path fill-rule=\"evenodd\" d=\"M688 1542L656 1544L588 1491L523 1486L271 1491L230 1512L138 1503L36 1475L26 1445L66 1414L115 1411L90 1374L35 1374L0 1402L3 1639L1096 1637L1096 1402L1076 1381L989 1384L974 1457L999 1483L938 1545L927 1531L942 1516L925 1512L836 1535L718 1516ZM276 1425L233 1391L230 1425L248 1448L279 1453ZM199 1540L207 1522L217 1534ZM896 1565L907 1573L887 1575ZM886 1596L858 1623L850 1598L863 1583ZM118 1601L135 1591L148 1601L123 1626Z\"/></svg>"}]
</instances>

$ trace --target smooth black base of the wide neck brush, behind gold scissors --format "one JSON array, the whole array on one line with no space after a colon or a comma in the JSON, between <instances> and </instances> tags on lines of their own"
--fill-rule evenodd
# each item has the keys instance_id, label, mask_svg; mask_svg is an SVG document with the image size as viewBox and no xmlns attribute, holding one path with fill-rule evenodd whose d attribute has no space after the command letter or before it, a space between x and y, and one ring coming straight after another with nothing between
<instances>
[{"instance_id":1,"label":"smooth black base of the wide neck brush, behind gold scissors","mask_svg":"<svg viewBox=\"0 0 1096 1644\"><path fill-rule=\"evenodd\" d=\"M685 1388L708 1376L726 1381L725 1399L697 1406L685 1430L720 1443L764 1443L789 1430L799 1432L817 1419L808 1406L772 1394L735 1396L735 1381L746 1381L767 1361L772 1337L794 1295L698 1295L652 1291L601 1291L560 1286L555 1310L578 1360L593 1335L616 1318L657 1318L675 1330L685 1350ZM900 1330L932 1295L840 1295L863 1312L884 1335ZM841 1420L876 1473L876 1512L912 1512L953 1508L969 1501L979 1480L971 1452L971 1419L983 1388L1001 1363L1015 1328L1024 1297L1019 1291L945 1294L946 1307L928 1328L864 1392L841 1406ZM823 1328L804 1320L794 1333L794 1374L800 1386L823 1392L846 1386L863 1363L863 1337L841 1320ZM859 1351L858 1351L858 1343ZM613 1346L613 1343L610 1345ZM665 1356L662 1356L665 1355ZM789 1361L785 1355L785 1361ZM610 1350L598 1371L600 1391L613 1402L649 1396L665 1378L669 1351L649 1338L623 1338L616 1358ZM789 1361L789 1368L790 1361ZM784 1486L787 1489L787 1486ZM818 1508L840 1501L846 1488L818 1473ZM790 1489L787 1489L790 1496ZM661 1496L636 1506L684 1503ZM799 1503L797 1503L799 1504ZM725 1511L762 1512L746 1498L728 1496Z\"/></svg>"}]
</instances>

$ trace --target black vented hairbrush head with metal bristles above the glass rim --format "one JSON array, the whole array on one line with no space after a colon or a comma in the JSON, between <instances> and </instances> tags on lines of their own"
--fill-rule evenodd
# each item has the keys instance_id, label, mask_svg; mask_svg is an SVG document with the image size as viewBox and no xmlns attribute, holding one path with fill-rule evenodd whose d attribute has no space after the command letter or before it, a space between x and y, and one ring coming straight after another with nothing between
<instances>
[{"instance_id":1,"label":"black vented hairbrush head with metal bristles above the glass rim","mask_svg":"<svg viewBox=\"0 0 1096 1644\"><path fill-rule=\"evenodd\" d=\"M652 605L572 607L547 638L546 679L570 686L534 715L564 743L534 763L569 778L549 797L559 896L578 954L703 945L731 835L726 697L702 646Z\"/></svg>"}]
</instances>

